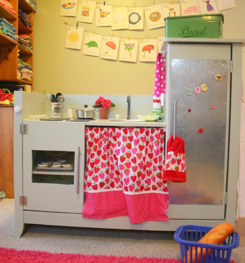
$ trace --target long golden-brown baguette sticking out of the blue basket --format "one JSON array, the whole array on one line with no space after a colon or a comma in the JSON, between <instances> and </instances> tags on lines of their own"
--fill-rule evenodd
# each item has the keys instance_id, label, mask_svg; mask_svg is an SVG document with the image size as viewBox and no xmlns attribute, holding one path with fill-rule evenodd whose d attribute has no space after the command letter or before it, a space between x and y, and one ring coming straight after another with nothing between
<instances>
[{"instance_id":1,"label":"long golden-brown baguette sticking out of the blue basket","mask_svg":"<svg viewBox=\"0 0 245 263\"><path fill-rule=\"evenodd\" d=\"M204 235L198 242L199 243L207 243L207 244L215 244L215 245L220 245L222 244L226 238L232 234L234 231L234 227L231 223L225 222L218 224L216 227L213 227L211 230L208 231L206 235ZM196 251L197 251L197 262L200 263L201 259L201 248L200 247L192 247L192 261L190 259L190 254L191 251L188 249L187 251L187 261L185 261L184 257L184 262L186 263L195 263L195 258L196 258ZM211 254L211 249L208 249L208 256ZM206 248L203 248L203 261L205 260L206 256Z\"/></svg>"}]
</instances>

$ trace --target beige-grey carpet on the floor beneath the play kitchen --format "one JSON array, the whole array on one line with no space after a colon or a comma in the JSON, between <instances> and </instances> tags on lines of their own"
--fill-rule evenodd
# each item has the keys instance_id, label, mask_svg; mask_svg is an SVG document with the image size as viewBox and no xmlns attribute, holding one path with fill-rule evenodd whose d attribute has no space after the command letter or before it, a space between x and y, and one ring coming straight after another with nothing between
<instances>
[{"instance_id":1,"label":"beige-grey carpet on the floor beneath the play kitchen","mask_svg":"<svg viewBox=\"0 0 245 263\"><path fill-rule=\"evenodd\" d=\"M85 255L165 257L180 259L174 232L108 230L77 227L29 225L20 238L15 238L14 199L0 201L0 247ZM245 218L235 223L240 245L231 258L245 262Z\"/></svg>"}]
</instances>

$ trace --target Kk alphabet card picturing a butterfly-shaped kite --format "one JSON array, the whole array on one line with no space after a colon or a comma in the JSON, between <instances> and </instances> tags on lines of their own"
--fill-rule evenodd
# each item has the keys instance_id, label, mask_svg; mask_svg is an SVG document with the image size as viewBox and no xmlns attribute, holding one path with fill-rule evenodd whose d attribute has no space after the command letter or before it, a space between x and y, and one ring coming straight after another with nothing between
<instances>
[{"instance_id":1,"label":"Kk alphabet card picturing a butterfly-shaped kite","mask_svg":"<svg viewBox=\"0 0 245 263\"><path fill-rule=\"evenodd\" d=\"M112 25L112 6L96 5L95 8L95 26L108 27Z\"/></svg>"}]
</instances>

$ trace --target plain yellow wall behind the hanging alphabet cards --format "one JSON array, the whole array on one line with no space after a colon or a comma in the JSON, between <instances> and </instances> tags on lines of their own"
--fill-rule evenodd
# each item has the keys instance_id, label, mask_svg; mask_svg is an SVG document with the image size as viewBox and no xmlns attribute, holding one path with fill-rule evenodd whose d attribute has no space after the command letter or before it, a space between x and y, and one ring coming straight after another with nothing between
<instances>
[{"instance_id":1,"label":"plain yellow wall behind the hanging alphabet cards","mask_svg":"<svg viewBox=\"0 0 245 263\"><path fill-rule=\"evenodd\" d=\"M100 1L101 3L103 1ZM154 4L169 3L168 0ZM173 1L177 2L177 1ZM178 1L179 2L179 1ZM224 14L223 38L245 39L245 1L236 0L236 7L222 11ZM97 2L99 3L99 2ZM150 6L152 1L106 1L120 6ZM37 1L34 15L34 91L62 94L126 94L151 95L154 88L155 62L121 62L86 56L81 50L66 49L67 22L76 25L75 17L60 16L60 0ZM111 36L110 27L95 27L95 23L81 23L85 31ZM127 38L157 38L165 36L165 28L148 30L114 30L113 36Z\"/></svg>"}]
</instances>

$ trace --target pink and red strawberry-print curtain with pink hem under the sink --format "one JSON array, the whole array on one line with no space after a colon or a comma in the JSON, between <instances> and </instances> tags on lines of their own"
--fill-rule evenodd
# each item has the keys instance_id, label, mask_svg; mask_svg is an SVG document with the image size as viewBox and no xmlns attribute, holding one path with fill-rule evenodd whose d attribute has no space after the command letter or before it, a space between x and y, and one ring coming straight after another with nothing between
<instances>
[{"instance_id":1,"label":"pink and red strawberry-print curtain with pink hem under the sink","mask_svg":"<svg viewBox=\"0 0 245 263\"><path fill-rule=\"evenodd\" d=\"M84 218L168 220L163 128L85 128Z\"/></svg>"}]
</instances>

